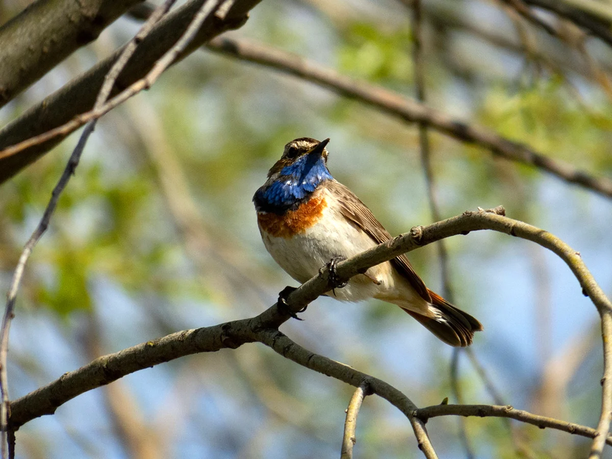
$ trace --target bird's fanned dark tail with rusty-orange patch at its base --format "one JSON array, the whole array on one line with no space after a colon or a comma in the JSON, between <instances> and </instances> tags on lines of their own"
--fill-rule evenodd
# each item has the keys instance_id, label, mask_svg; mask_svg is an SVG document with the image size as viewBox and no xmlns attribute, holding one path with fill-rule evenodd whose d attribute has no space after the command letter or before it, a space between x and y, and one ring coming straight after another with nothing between
<instances>
[{"instance_id":1,"label":"bird's fanned dark tail with rusty-orange patch at its base","mask_svg":"<svg viewBox=\"0 0 612 459\"><path fill-rule=\"evenodd\" d=\"M425 317L406 309L405 311L445 343L461 347L471 345L474 332L482 330L482 324L430 289L427 290L431 296L431 308L435 310L436 318Z\"/></svg>"}]
</instances>

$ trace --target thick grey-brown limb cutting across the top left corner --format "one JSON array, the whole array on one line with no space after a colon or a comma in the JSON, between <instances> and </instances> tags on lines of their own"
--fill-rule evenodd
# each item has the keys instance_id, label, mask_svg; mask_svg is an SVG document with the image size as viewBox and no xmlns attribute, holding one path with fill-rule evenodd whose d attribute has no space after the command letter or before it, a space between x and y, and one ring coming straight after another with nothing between
<instances>
[{"instance_id":1,"label":"thick grey-brown limb cutting across the top left corner","mask_svg":"<svg viewBox=\"0 0 612 459\"><path fill-rule=\"evenodd\" d=\"M0 107L142 0L38 0L0 28Z\"/></svg>"}]
</instances>

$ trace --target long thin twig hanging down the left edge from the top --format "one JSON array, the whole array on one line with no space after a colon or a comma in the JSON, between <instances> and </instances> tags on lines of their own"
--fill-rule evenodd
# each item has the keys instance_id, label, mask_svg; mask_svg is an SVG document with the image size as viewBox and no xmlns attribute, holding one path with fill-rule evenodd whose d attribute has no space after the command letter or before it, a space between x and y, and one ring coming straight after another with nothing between
<instances>
[{"instance_id":1,"label":"long thin twig hanging down the left edge from the top","mask_svg":"<svg viewBox=\"0 0 612 459\"><path fill-rule=\"evenodd\" d=\"M155 9L154 13L152 13L149 20L143 24L140 31L133 37L132 40L128 43L128 45L124 48L121 55L117 59L117 61L113 64L111 69L105 76L104 83L102 84L102 88L98 94L98 97L95 101L94 110L103 105L103 103L108 99L111 90L113 89L114 83L121 73L121 70L124 69L127 61L132 57L132 54L138 47L138 43L140 43L144 37L151 31L155 23L157 23L163 15L170 9L172 4L176 0L166 0L162 5ZM43 217L40 220L39 225L34 230L34 233L28 239L25 247L23 248L23 252L19 258L17 267L15 267L15 272L13 274L13 279L10 285L9 293L7 294L7 303L4 311L4 317L2 318L2 328L0 329L0 394L2 397L2 404L0 409L0 430L2 430L2 458L6 457L6 432L8 425L8 417L9 417L9 391L8 391L8 379L7 379L7 354L9 349L9 330L10 330L10 322L15 316L15 299L17 298L17 292L19 290L19 286L21 284L21 278L23 277L23 272L28 261L29 256L32 253L37 242L40 240L40 237L45 233L47 227L51 221L51 216L55 211L55 208L58 204L59 196L67 185L70 177L73 176L76 170L76 166L78 166L79 160L81 158L81 154L83 154L83 149L89 135L94 131L96 120L92 120L83 130L81 137L76 144L75 149L70 155L70 159L59 178L58 183L53 188L53 192L51 193L51 200L47 204L47 208L43 214Z\"/></svg>"}]
</instances>

